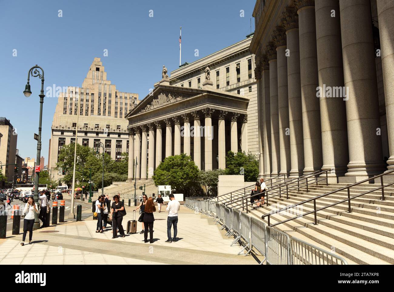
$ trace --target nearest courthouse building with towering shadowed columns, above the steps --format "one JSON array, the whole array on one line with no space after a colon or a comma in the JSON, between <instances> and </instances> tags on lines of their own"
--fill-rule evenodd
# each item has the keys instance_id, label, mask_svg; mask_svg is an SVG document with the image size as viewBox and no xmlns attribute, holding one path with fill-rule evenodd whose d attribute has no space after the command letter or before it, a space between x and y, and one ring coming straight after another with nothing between
<instances>
[{"instance_id":1,"label":"nearest courthouse building with towering shadowed columns, above the steps","mask_svg":"<svg viewBox=\"0 0 394 292\"><path fill-rule=\"evenodd\" d=\"M394 169L394 1L258 0L253 17L260 176Z\"/></svg>"}]
</instances>

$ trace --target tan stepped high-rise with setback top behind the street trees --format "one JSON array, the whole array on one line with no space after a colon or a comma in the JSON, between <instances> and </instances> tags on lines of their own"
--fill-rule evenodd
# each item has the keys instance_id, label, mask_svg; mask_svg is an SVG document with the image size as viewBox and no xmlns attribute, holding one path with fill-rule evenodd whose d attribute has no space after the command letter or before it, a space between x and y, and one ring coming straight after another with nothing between
<instances>
[{"instance_id":1,"label":"tan stepped high-rise with setback top behind the street trees","mask_svg":"<svg viewBox=\"0 0 394 292\"><path fill-rule=\"evenodd\" d=\"M122 159L122 152L128 152L125 116L139 103L138 94L117 91L107 80L100 58L95 58L82 87L68 87L58 98L48 154L48 169L52 170L54 179L62 177L55 170L60 150L75 142L78 98L78 144L98 149L98 142L102 142L104 151L116 161Z\"/></svg>"}]
</instances>

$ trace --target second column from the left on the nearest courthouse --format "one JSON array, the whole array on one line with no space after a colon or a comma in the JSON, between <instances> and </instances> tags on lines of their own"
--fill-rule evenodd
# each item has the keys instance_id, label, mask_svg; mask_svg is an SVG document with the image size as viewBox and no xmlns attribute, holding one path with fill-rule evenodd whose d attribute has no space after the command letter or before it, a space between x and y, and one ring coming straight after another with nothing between
<instances>
[{"instance_id":1,"label":"second column from the left on the nearest courthouse","mask_svg":"<svg viewBox=\"0 0 394 292\"><path fill-rule=\"evenodd\" d=\"M269 104L269 63L267 56L262 58L262 104L263 104L263 141L264 141L264 178L271 177L271 106Z\"/></svg>"}]
</instances>

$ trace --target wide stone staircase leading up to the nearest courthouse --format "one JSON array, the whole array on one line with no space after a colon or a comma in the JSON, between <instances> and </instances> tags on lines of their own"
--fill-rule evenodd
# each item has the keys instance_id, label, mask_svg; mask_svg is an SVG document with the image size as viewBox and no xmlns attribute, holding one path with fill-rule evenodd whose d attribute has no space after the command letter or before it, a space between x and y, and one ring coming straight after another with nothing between
<instances>
[{"instance_id":1,"label":"wide stone staircase leading up to the nearest courthouse","mask_svg":"<svg viewBox=\"0 0 394 292\"><path fill-rule=\"evenodd\" d=\"M263 214L289 205L326 194L349 184L339 183L309 185L299 191L289 192L282 198L269 198L269 206L255 208L252 216L261 219ZM380 187L379 184L361 184L351 187L350 196ZM381 201L381 190L351 200L351 213L345 201L327 209L317 211L317 225L314 213L276 225L274 228L310 242L320 248L331 250L344 257L349 264L394 264L394 187L385 188L385 201ZM348 198L347 189L316 200L316 209ZM301 209L289 209L270 216L270 223L293 218L314 210L313 201L301 205ZM301 207L300 206L300 207ZM263 222L268 225L267 217Z\"/></svg>"}]
</instances>

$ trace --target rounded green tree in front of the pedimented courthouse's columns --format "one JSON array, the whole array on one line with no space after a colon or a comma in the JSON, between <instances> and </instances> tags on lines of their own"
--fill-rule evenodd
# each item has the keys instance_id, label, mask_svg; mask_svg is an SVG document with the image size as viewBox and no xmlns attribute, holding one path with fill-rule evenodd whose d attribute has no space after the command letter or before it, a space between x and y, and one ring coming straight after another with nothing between
<instances>
[{"instance_id":1,"label":"rounded green tree in front of the pedimented courthouse's columns","mask_svg":"<svg viewBox=\"0 0 394 292\"><path fill-rule=\"evenodd\" d=\"M176 192L188 196L191 189L199 186L198 177L198 167L190 156L182 153L166 157L156 168L152 178L155 185L171 185Z\"/></svg>"}]
</instances>

